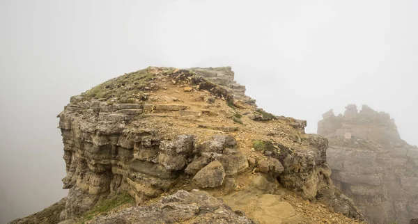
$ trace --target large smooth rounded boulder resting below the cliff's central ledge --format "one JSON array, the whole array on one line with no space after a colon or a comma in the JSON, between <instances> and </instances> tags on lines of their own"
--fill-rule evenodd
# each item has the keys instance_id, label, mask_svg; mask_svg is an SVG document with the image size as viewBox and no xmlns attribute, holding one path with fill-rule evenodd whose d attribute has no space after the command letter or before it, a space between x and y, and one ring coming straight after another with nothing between
<instances>
[{"instance_id":1,"label":"large smooth rounded boulder resting below the cliff's central ledge","mask_svg":"<svg viewBox=\"0 0 418 224\"><path fill-rule=\"evenodd\" d=\"M221 186L224 183L225 170L219 161L212 161L193 177L192 182L201 188Z\"/></svg>"}]
</instances>

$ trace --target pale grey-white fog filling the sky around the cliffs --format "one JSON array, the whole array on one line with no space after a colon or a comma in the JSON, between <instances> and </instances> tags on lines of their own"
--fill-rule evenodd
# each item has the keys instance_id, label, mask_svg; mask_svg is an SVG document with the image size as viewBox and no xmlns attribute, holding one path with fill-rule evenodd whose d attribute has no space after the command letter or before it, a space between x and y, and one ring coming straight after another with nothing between
<instances>
[{"instance_id":1,"label":"pale grey-white fog filling the sky around the cliffs","mask_svg":"<svg viewBox=\"0 0 418 224\"><path fill-rule=\"evenodd\" d=\"M150 65L230 65L261 108L368 104L418 145L418 1L0 1L0 223L66 195L56 115Z\"/></svg>"}]
</instances>

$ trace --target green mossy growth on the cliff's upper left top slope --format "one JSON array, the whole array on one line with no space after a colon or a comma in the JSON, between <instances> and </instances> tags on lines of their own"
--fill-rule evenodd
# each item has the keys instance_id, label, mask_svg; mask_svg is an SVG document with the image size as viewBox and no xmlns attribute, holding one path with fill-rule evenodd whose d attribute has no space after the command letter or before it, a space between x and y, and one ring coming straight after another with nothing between
<instances>
[{"instance_id":1,"label":"green mossy growth on the cliff's upper left top slope","mask_svg":"<svg viewBox=\"0 0 418 224\"><path fill-rule=\"evenodd\" d=\"M148 69L124 74L120 77L105 81L82 94L86 99L109 99L111 97L132 97L132 94L141 93L147 82L153 78Z\"/></svg>"}]
</instances>

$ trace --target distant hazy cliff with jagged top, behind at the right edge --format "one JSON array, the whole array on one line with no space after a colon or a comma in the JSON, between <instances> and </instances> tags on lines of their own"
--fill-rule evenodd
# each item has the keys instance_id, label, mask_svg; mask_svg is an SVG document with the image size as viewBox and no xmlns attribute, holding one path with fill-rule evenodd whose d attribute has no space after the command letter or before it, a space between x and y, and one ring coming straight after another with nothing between
<instances>
[{"instance_id":1,"label":"distant hazy cliff with jagged top, behind at the right edge","mask_svg":"<svg viewBox=\"0 0 418 224\"><path fill-rule=\"evenodd\" d=\"M408 223L418 214L418 148L398 134L389 114L350 104L318 122L330 147L332 181L371 223Z\"/></svg>"}]
</instances>

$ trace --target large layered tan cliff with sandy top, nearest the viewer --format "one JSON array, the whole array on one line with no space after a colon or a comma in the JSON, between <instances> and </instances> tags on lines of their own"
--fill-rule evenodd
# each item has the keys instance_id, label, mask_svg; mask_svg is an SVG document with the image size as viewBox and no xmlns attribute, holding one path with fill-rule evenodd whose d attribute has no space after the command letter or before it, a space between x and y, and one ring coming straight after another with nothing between
<instances>
[{"instance_id":1,"label":"large layered tan cliff with sandy top, nearest the viewer","mask_svg":"<svg viewBox=\"0 0 418 224\"><path fill-rule=\"evenodd\" d=\"M69 189L61 221L362 221L331 183L327 140L257 108L233 76L148 67L71 97L58 115ZM129 204L124 193L139 207L108 214Z\"/></svg>"}]
</instances>

